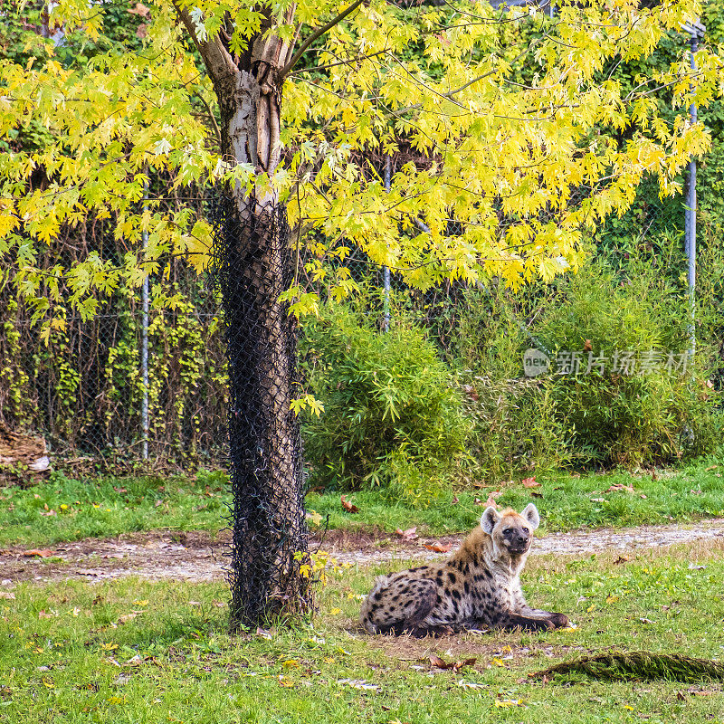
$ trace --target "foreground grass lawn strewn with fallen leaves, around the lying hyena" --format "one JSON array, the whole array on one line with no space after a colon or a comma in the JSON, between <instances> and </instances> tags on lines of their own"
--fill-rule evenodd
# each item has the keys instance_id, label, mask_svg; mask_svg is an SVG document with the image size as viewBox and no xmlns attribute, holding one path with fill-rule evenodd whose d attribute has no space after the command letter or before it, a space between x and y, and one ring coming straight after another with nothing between
<instances>
[{"instance_id":1,"label":"foreground grass lawn strewn with fallen leaves, around the lying hyena","mask_svg":"<svg viewBox=\"0 0 724 724\"><path fill-rule=\"evenodd\" d=\"M376 570L332 574L312 623L272 628L269 638L225 633L222 584L125 579L0 588L0 719L721 724L720 682L529 679L611 646L724 657L721 546L614 561L530 562L530 603L566 612L576 630L419 641L358 631L359 598ZM476 662L441 671L429 661L433 653Z\"/></svg>"}]
</instances>

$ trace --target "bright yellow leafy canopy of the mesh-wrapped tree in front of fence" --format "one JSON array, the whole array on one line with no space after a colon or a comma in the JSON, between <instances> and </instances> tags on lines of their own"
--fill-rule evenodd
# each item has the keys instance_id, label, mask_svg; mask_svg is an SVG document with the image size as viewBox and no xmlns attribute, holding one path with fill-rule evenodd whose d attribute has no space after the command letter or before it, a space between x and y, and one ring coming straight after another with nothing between
<instances>
[{"instance_id":1,"label":"bright yellow leafy canopy of the mesh-wrapped tree in front of fence","mask_svg":"<svg viewBox=\"0 0 724 724\"><path fill-rule=\"evenodd\" d=\"M633 88L614 78L619 63L647 56L700 13L695 0L640 5L651 4L564 0L553 17L470 0L24 5L15 11L23 52L0 64L0 253L37 319L55 325L58 309L91 315L169 253L201 269L204 215L141 203L149 176L167 173L169 194L273 188L298 243L314 252L312 274L328 275L324 262L357 244L422 288L443 278L550 279L576 267L586 230L622 213L643 176L672 193L709 143L686 110L722 89L716 48L704 45L691 71L682 34L671 67ZM135 36L114 36L119 6L140 21ZM69 52L88 43L90 58ZM271 170L221 153L204 43L233 60L264 43L287 54L283 147ZM681 112L662 114L662 88ZM402 159L389 190L379 163L387 154ZM43 244L89 216L112 220L125 258L90 253L39 268ZM448 233L451 220L461 233ZM330 286L343 295L352 282L336 269ZM313 305L302 297L297 310Z\"/></svg>"}]
</instances>

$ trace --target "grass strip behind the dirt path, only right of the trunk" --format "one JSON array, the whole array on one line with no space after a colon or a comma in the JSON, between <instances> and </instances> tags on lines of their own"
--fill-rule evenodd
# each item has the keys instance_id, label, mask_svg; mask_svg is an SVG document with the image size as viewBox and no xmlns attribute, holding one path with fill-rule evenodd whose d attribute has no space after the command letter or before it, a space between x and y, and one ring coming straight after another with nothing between
<instances>
[{"instance_id":1,"label":"grass strip behind the dirt path, only right of the trunk","mask_svg":"<svg viewBox=\"0 0 724 724\"><path fill-rule=\"evenodd\" d=\"M348 493L346 499L359 512L347 513L338 493L307 496L307 509L324 519L330 528L376 526L392 532L424 526L431 534L470 530L480 520L491 492L501 492L499 505L521 510L533 500L541 512L542 531L569 530L584 526L625 527L662 524L724 516L724 457L710 457L680 469L632 475L614 472L580 477L568 473L540 475L540 487L528 489L519 481L486 486L472 491L443 491L426 504L392 502L378 491ZM611 486L633 487L633 492L611 491ZM454 499L458 502L455 503ZM476 503L477 499L477 503Z\"/></svg>"}]
</instances>

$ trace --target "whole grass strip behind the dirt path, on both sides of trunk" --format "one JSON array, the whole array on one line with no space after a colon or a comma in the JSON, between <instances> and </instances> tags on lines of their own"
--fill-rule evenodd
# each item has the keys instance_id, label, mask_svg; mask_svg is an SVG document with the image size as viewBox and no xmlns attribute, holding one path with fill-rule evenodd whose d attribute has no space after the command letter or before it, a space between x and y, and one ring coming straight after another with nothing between
<instances>
[{"instance_id":1,"label":"whole grass strip behind the dirt path, on both sides of trunk","mask_svg":"<svg viewBox=\"0 0 724 724\"><path fill-rule=\"evenodd\" d=\"M429 535L461 533L480 519L492 492L500 504L521 509L535 500L543 529L633 526L724 516L724 457L717 456L656 474L540 475L540 487L520 482L443 490L435 500L390 500L385 491L347 493L359 509L346 512L340 491L310 493L307 508L319 513L310 528L396 528L418 526ZM610 491L613 485L633 487ZM532 497L537 496L537 497ZM454 502L457 497L457 502ZM476 502L477 499L477 502ZM102 538L139 530L207 530L224 527L229 497L219 472L162 480L152 477L72 480L53 474L30 488L0 489L0 547L44 546L66 540ZM318 521L315 525L314 521ZM321 522L319 522L321 520Z\"/></svg>"}]
</instances>

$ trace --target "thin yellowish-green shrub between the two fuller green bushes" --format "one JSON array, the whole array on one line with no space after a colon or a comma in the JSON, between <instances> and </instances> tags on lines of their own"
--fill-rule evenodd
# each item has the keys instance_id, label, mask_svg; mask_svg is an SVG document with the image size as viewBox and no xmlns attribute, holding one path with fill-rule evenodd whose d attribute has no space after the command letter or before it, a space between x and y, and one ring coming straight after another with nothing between
<instances>
[{"instance_id":1,"label":"thin yellowish-green shrub between the two fuller green bushes","mask_svg":"<svg viewBox=\"0 0 724 724\"><path fill-rule=\"evenodd\" d=\"M491 284L469 289L458 305L449 360L467 391L469 474L476 481L550 471L569 461L550 386L522 376L523 351L534 345L526 320L545 309L549 297L543 284L517 293Z\"/></svg>"}]
</instances>

